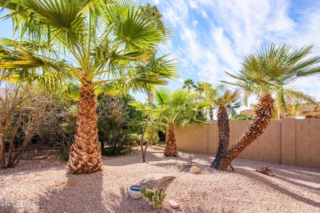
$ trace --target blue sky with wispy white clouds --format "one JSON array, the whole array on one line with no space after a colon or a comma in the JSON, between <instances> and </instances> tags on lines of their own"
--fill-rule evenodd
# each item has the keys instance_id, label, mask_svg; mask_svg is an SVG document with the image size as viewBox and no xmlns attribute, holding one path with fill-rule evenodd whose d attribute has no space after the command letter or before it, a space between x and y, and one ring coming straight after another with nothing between
<instances>
[{"instance_id":1,"label":"blue sky with wispy white clouds","mask_svg":"<svg viewBox=\"0 0 320 213\"><path fill-rule=\"evenodd\" d=\"M173 31L161 54L171 53L180 79L232 81L224 71L236 74L244 56L264 43L285 42L292 49L313 44L320 55L320 0L142 0L156 5L163 22ZM9 37L12 25L0 21L0 37ZM294 86L320 101L320 77L301 78ZM146 95L136 94L139 100ZM256 103L256 97L249 103ZM249 107L242 106L241 109Z\"/></svg>"}]
</instances>

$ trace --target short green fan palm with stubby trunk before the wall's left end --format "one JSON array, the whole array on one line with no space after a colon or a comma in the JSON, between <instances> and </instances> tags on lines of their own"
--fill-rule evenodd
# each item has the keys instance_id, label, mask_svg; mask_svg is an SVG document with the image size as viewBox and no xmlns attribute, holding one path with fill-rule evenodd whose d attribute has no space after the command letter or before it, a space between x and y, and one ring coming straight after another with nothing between
<instances>
[{"instance_id":1,"label":"short green fan palm with stubby trunk before the wall's left end","mask_svg":"<svg viewBox=\"0 0 320 213\"><path fill-rule=\"evenodd\" d=\"M195 94L184 89L172 91L168 87L159 87L154 91L153 103L151 107L135 101L130 103L145 113L153 117L154 121L167 128L165 142L165 156L176 156L177 147L175 143L174 128L176 126L186 126L191 124L201 124L205 118L197 118L198 111L202 110L209 103L201 101L195 103Z\"/></svg>"}]
</instances>

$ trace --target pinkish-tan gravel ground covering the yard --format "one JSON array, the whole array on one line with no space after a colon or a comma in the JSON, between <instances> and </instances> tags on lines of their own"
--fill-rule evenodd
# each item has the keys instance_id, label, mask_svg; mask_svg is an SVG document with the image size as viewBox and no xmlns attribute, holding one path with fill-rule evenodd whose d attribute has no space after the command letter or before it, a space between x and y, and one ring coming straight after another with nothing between
<instances>
[{"instance_id":1,"label":"pinkish-tan gravel ground covering the yard","mask_svg":"<svg viewBox=\"0 0 320 213\"><path fill-rule=\"evenodd\" d=\"M162 148L148 149L147 163L139 150L102 158L103 170L88 175L65 171L56 156L23 160L0 170L0 212L7 213L319 213L320 170L235 159L227 171L210 169L214 156L193 153L163 157ZM254 172L270 166L274 177ZM141 198L130 198L128 188L141 177L164 173L176 178L162 184L166 198L160 210ZM171 209L169 200L180 204Z\"/></svg>"}]
</instances>

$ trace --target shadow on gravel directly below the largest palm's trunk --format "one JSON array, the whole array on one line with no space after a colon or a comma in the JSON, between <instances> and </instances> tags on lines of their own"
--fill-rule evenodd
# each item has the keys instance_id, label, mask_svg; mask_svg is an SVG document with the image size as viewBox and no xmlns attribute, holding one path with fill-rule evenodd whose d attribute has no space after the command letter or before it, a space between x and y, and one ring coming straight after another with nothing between
<instances>
[{"instance_id":1,"label":"shadow on gravel directly below the largest palm's trunk","mask_svg":"<svg viewBox=\"0 0 320 213\"><path fill-rule=\"evenodd\" d=\"M103 184L101 171L85 175L67 173L66 177L65 182L56 184L39 195L40 212L107 212L101 197ZM85 204L82 203L83 197L86 200Z\"/></svg>"}]
</instances>

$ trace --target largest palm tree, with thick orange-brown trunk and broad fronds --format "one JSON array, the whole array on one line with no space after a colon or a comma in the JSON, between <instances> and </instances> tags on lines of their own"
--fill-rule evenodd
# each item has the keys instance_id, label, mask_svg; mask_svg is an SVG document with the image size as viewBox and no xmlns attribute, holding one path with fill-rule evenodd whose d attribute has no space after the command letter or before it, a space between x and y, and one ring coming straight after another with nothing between
<instances>
[{"instance_id":1,"label":"largest palm tree, with thick orange-brown trunk and broad fronds","mask_svg":"<svg viewBox=\"0 0 320 213\"><path fill-rule=\"evenodd\" d=\"M80 83L74 143L69 151L70 173L101 168L95 93L139 88L141 82L166 84L168 72L137 72L134 61L152 57L165 43L163 30L140 15L130 0L0 0L11 9L20 41L1 39L1 76L10 81L37 81L55 88L64 79Z\"/></svg>"}]
</instances>

